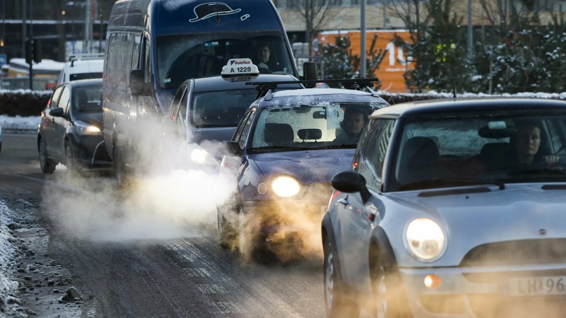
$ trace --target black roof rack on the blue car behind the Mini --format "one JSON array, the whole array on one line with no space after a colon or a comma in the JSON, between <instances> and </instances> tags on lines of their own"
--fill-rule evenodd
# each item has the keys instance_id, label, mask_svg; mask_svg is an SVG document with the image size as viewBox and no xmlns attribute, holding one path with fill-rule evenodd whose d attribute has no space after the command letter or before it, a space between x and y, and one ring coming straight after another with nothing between
<instances>
[{"instance_id":1,"label":"black roof rack on the blue car behind the Mini","mask_svg":"<svg viewBox=\"0 0 566 318\"><path fill-rule=\"evenodd\" d=\"M373 96L379 97L372 87L372 83L379 83L378 78L370 79L328 79L328 80L288 80L288 81L248 81L246 85L254 85L255 89L258 91L259 99L265 96L269 91L275 92L277 85L282 84L314 84L314 83L341 83L346 89L354 89L356 91L361 91L366 88ZM271 95L271 94L270 94ZM270 98L271 99L271 98Z\"/></svg>"}]
</instances>

